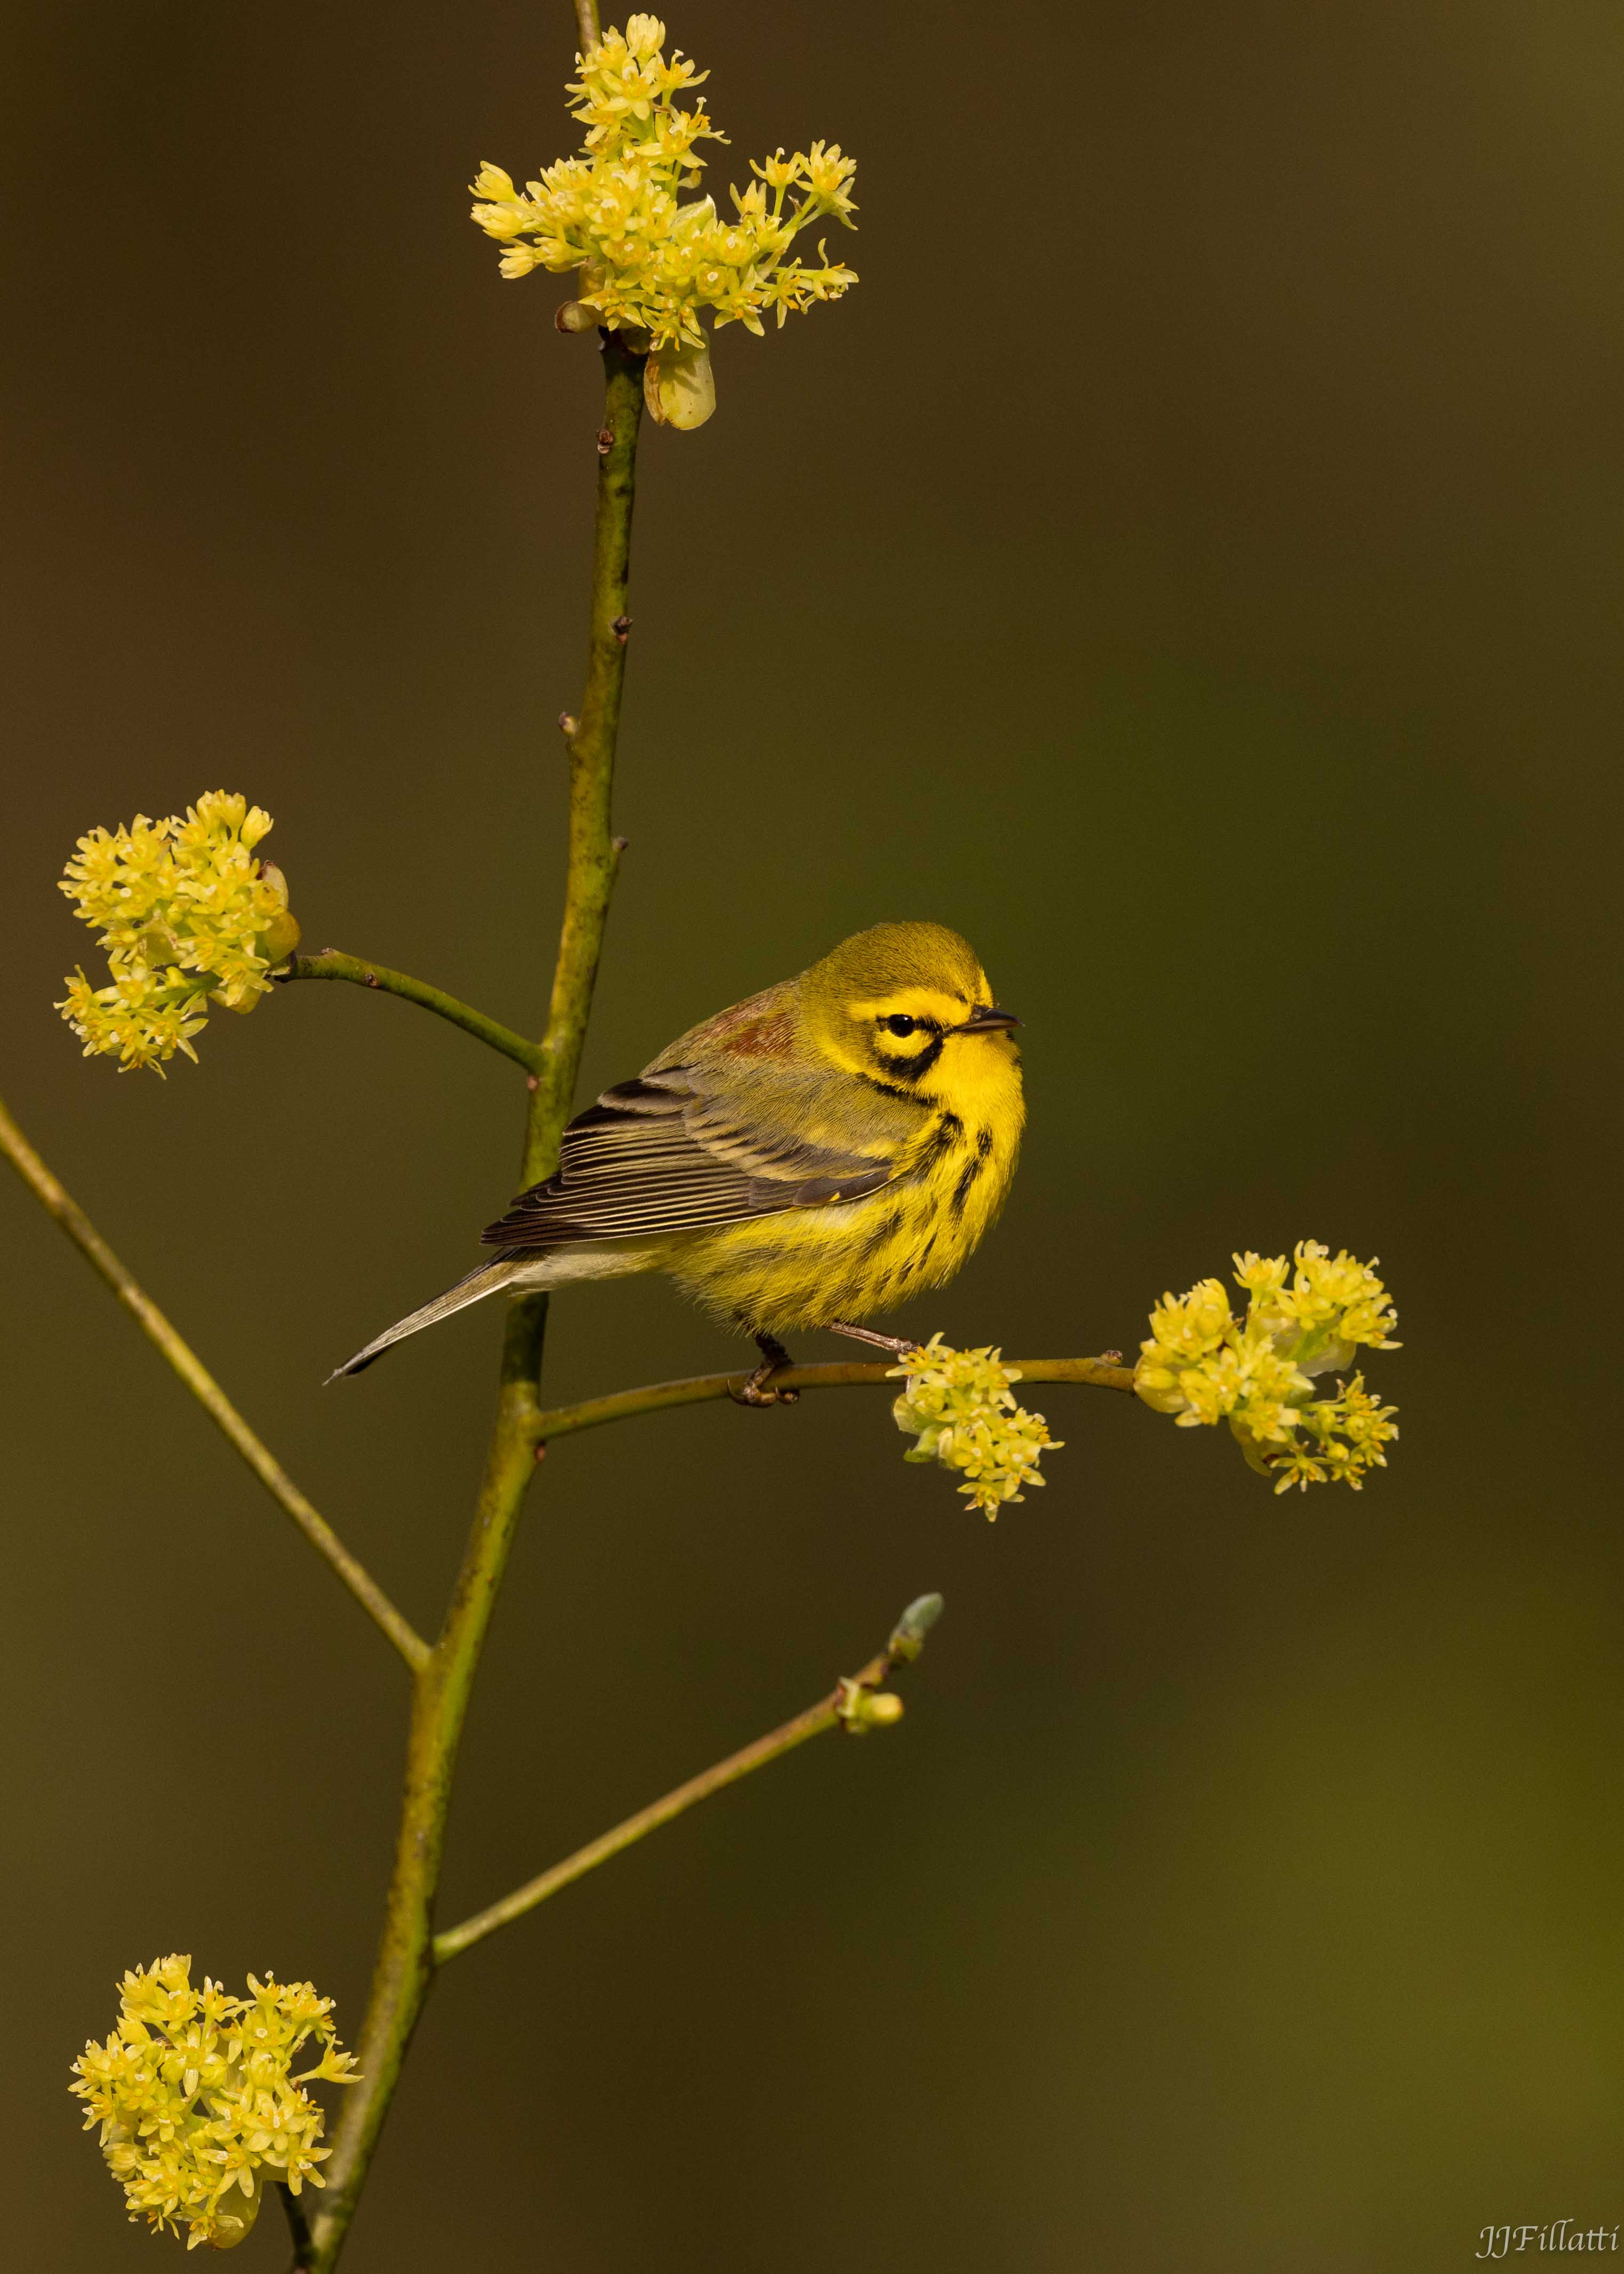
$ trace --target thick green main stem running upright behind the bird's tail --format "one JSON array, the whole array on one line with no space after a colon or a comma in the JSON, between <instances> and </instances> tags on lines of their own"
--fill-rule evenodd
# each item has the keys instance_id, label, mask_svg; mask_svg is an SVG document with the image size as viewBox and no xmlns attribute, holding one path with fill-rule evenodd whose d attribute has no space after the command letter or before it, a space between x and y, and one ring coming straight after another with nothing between
<instances>
[{"instance_id":1,"label":"thick green main stem running upright behind the bird's tail","mask_svg":"<svg viewBox=\"0 0 1624 2274\"><path fill-rule=\"evenodd\" d=\"M637 430L644 409L644 357L628 355L619 339L605 332L603 364L605 405L598 430L587 689L580 721L569 721L566 728L569 873L564 926L546 1035L530 1082L523 1146L525 1185L539 1182L557 1167L560 1135L575 1092L591 987L603 948L603 923L619 864L619 846L610 835L610 787L621 723L625 634L630 630L625 598ZM541 1412L537 1385L544 1335L546 1296L519 1296L507 1312L496 1428L491 1430L473 1528L439 1642L416 1678L393 1876L357 2044L364 2083L357 2083L343 2099L332 2163L325 2169L328 2188L312 2222L312 2274L330 2274L343 2249L378 2133L389 2115L400 2063L434 1978L432 1915L450 1781L496 1592L537 1464L537 1417Z\"/></svg>"}]
</instances>

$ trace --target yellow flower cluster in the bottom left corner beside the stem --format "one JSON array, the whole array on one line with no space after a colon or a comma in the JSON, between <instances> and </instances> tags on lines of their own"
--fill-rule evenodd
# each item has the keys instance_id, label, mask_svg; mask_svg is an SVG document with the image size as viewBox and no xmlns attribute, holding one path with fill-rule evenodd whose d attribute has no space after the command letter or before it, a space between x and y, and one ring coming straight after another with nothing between
<instances>
[{"instance_id":1,"label":"yellow flower cluster in the bottom left corner beside the stem","mask_svg":"<svg viewBox=\"0 0 1624 2274\"><path fill-rule=\"evenodd\" d=\"M125 1974L118 2028L91 2040L73 2063L68 2090L86 2103L84 2128L102 2126L107 2169L125 2190L132 2219L234 2249L255 2224L268 2181L293 2194L332 2149L318 2147L323 2110L303 2085L353 2085L355 2060L334 2040L330 1997L309 1983L262 1983L230 1997L205 1976L191 1987L191 1958L155 1958ZM307 2038L321 2042L314 2067L291 2074Z\"/></svg>"}]
</instances>

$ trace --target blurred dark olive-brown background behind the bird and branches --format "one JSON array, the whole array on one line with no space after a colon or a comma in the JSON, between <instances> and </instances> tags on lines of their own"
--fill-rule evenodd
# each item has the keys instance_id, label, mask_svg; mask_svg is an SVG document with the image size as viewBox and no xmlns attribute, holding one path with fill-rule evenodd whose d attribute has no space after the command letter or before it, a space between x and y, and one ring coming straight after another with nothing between
<instances>
[{"instance_id":1,"label":"blurred dark olive-brown background behind the bird and branches","mask_svg":"<svg viewBox=\"0 0 1624 2274\"><path fill-rule=\"evenodd\" d=\"M346 2265L1342 2274L1624 2215L1615 1521L1624 23L1604 0L694 5L751 155L860 157L862 287L648 432L582 1096L883 916L1028 1021L1005 1223L905 1323L1130 1348L1235 1246L1381 1255L1358 1499L1051 1389L996 1528L885 1401L560 1444L444 1917L948 1615L821 1742L462 1960ZM498 1317L514 1071L359 989L168 1082L52 1012L91 823L277 819L312 946L537 1028L598 364L482 159L573 148L564 0L9 14L2 1087L407 1612ZM89 957L86 957L89 960ZM359 2026L400 1667L0 1182L9 2231L150 2267L66 2069L116 1974ZM723 1362L660 1285L548 1383ZM835 1355L835 1344L807 1346ZM246 2267L284 2263L273 2215Z\"/></svg>"}]
</instances>

